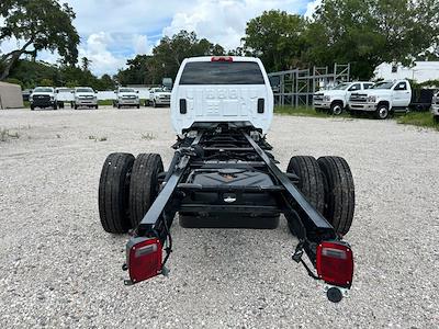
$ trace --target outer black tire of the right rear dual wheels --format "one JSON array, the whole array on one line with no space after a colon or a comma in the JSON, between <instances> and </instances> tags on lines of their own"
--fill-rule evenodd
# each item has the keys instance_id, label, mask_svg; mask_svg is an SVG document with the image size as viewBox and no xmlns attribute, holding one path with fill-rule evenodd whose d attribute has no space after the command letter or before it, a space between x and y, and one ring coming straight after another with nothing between
<instances>
[{"instance_id":1,"label":"outer black tire of the right rear dual wheels","mask_svg":"<svg viewBox=\"0 0 439 329\"><path fill-rule=\"evenodd\" d=\"M356 205L353 178L348 162L340 157L317 160L325 178L325 208L323 215L338 235L346 235L352 225Z\"/></svg>"}]
</instances>

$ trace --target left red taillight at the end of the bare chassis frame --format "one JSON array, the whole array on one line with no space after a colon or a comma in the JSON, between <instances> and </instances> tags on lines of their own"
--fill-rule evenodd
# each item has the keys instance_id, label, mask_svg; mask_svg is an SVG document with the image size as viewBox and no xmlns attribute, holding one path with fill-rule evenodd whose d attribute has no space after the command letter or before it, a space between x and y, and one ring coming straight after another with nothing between
<instances>
[{"instance_id":1,"label":"left red taillight at the end of the bare chassis frame","mask_svg":"<svg viewBox=\"0 0 439 329\"><path fill-rule=\"evenodd\" d=\"M126 245L126 264L130 279L137 283L161 272L161 243L157 238L137 237Z\"/></svg>"}]
</instances>

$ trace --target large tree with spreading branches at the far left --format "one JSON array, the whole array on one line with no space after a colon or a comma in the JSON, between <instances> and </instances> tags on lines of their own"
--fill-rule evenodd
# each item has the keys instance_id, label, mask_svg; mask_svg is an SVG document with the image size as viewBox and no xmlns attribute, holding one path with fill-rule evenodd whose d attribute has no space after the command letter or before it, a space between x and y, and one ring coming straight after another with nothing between
<instances>
[{"instance_id":1,"label":"large tree with spreading branches at the far left","mask_svg":"<svg viewBox=\"0 0 439 329\"><path fill-rule=\"evenodd\" d=\"M64 63L77 63L79 35L72 25L72 9L56 0L1 0L0 41L15 38L24 42L18 49L0 55L0 80L23 54L33 58L42 49L57 50Z\"/></svg>"}]
</instances>

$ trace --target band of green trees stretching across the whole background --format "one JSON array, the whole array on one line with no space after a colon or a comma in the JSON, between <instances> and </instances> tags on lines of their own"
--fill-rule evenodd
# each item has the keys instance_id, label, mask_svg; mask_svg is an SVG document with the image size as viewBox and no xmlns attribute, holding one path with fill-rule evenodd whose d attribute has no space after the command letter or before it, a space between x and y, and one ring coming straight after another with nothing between
<instances>
[{"instance_id":1,"label":"band of green trees stretching across the whole background","mask_svg":"<svg viewBox=\"0 0 439 329\"><path fill-rule=\"evenodd\" d=\"M268 71L350 63L357 79L370 79L383 61L410 65L439 59L437 0L324 0L312 19L266 11L247 22L236 49L181 31L164 36L151 55L137 55L113 77L100 78L91 73L89 59L81 58L78 64L79 35L69 5L56 0L2 0L0 16L4 19L0 42L11 37L24 41L21 48L0 53L0 80L23 87L42 82L95 89L159 84L165 77L175 78L181 61L191 56L256 56ZM59 63L37 61L42 49L57 50Z\"/></svg>"}]
</instances>

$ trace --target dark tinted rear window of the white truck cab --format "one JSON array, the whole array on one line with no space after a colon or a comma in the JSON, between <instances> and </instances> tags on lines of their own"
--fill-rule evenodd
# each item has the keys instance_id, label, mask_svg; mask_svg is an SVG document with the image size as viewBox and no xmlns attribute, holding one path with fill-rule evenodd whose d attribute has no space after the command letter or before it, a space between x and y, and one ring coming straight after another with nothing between
<instances>
[{"instance_id":1,"label":"dark tinted rear window of the white truck cab","mask_svg":"<svg viewBox=\"0 0 439 329\"><path fill-rule=\"evenodd\" d=\"M179 84L264 84L255 61L190 61Z\"/></svg>"}]
</instances>

